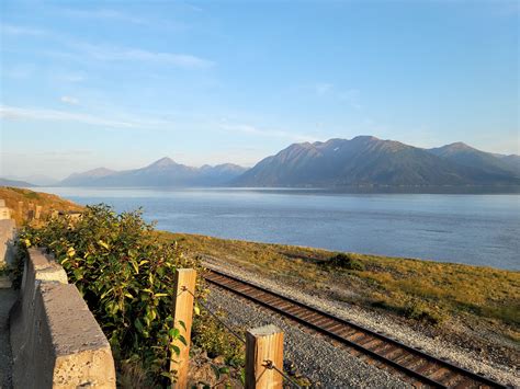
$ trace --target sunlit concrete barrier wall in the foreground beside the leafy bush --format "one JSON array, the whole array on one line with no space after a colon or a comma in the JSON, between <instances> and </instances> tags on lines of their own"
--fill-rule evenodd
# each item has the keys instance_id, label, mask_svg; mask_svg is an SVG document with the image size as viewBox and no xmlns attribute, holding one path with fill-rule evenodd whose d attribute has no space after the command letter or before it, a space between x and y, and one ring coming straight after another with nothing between
<instances>
[{"instance_id":1,"label":"sunlit concrete barrier wall in the foreground beside the leafy bush","mask_svg":"<svg viewBox=\"0 0 520 389\"><path fill-rule=\"evenodd\" d=\"M64 268L30 249L11 310L14 388L115 388L109 342Z\"/></svg>"}]
</instances>

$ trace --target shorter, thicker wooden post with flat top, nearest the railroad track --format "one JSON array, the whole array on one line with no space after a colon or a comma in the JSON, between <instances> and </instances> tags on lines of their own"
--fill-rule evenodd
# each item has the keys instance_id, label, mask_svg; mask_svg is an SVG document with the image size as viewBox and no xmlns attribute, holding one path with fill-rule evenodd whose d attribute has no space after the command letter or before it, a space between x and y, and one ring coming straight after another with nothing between
<instances>
[{"instance_id":1,"label":"shorter, thicker wooden post with flat top, nearest the railroad track","mask_svg":"<svg viewBox=\"0 0 520 389\"><path fill-rule=\"evenodd\" d=\"M269 324L246 333L246 388L282 389L283 377L271 362L283 371L283 332Z\"/></svg>"}]
</instances>

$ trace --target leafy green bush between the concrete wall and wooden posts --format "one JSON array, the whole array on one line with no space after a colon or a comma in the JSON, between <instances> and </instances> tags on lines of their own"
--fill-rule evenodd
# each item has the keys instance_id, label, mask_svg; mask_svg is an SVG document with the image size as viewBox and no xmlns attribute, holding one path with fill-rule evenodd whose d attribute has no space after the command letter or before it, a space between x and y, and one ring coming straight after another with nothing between
<instances>
[{"instance_id":1,"label":"leafy green bush between the concrete wall and wooden posts","mask_svg":"<svg viewBox=\"0 0 520 389\"><path fill-rule=\"evenodd\" d=\"M140 364L150 382L168 385L174 380L170 358L185 342L184 324L171 317L176 270L201 267L151 230L140 210L116 215L109 206L90 206L77 220L55 218L42 228L25 227L20 252L47 248L82 294L118 366ZM197 295L201 290L199 284Z\"/></svg>"}]
</instances>

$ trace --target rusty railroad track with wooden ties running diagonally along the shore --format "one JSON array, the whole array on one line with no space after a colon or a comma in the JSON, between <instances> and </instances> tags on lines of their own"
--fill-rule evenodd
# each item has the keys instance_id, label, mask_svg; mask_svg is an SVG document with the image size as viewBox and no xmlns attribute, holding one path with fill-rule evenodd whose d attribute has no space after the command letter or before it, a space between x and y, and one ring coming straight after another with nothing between
<instances>
[{"instance_id":1,"label":"rusty railroad track with wooden ties running diagonally along the shore","mask_svg":"<svg viewBox=\"0 0 520 389\"><path fill-rule=\"evenodd\" d=\"M351 348L354 355L364 356L368 363L405 375L416 387L507 388L491 378L228 274L211 270L204 278L325 334Z\"/></svg>"}]
</instances>

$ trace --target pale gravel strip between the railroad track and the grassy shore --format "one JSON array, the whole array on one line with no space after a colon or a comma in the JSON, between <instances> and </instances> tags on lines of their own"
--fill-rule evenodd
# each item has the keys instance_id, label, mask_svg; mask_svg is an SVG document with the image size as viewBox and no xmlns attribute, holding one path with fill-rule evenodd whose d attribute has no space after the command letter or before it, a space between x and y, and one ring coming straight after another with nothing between
<instances>
[{"instance_id":1,"label":"pale gravel strip between the railroad track and the grassy shore","mask_svg":"<svg viewBox=\"0 0 520 389\"><path fill-rule=\"evenodd\" d=\"M499 382L512 386L515 388L520 388L520 365L518 364L517 366L496 364L489 359L486 359L482 355L462 350L452 343L426 336L425 334L407 325L394 321L391 316L381 313L378 311L366 310L360 307L351 306L342 301L324 299L321 296L308 295L302 290L291 288L272 279L260 278L258 275L253 275L244 268L237 268L236 266L229 265L224 261L221 262L210 258L204 258L204 265L208 268L214 267L221 272L226 272L230 275L241 277L253 284L272 289L281 295L301 300L302 302L305 302L309 306L327 311L339 318L350 320L371 330L389 334L391 337L420 348L436 357L445 358L470 370L493 377ZM332 357L334 361L336 361L334 352L335 351L332 347Z\"/></svg>"}]
</instances>

